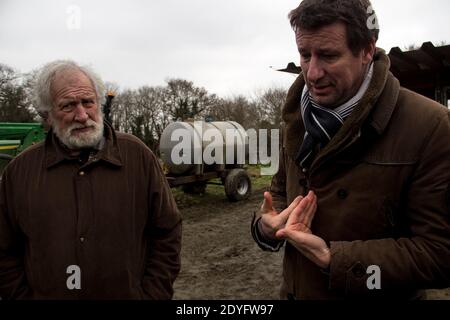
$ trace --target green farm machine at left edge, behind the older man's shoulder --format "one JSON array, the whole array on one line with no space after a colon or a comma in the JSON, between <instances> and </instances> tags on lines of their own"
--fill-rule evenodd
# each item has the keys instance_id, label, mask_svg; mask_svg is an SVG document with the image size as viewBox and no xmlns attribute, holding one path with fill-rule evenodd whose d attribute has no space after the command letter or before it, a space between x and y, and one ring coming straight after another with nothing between
<instances>
[{"instance_id":1,"label":"green farm machine at left edge, behind the older man's shoulder","mask_svg":"<svg viewBox=\"0 0 450 320\"><path fill-rule=\"evenodd\" d=\"M45 134L40 123L0 123L0 173L20 152L44 140Z\"/></svg>"}]
</instances>

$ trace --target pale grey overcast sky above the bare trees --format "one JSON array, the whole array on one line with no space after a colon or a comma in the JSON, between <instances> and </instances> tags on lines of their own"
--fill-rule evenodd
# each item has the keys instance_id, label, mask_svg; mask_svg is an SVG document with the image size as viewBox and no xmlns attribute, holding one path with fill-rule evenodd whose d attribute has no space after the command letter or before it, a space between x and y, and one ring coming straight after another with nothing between
<instances>
[{"instance_id":1,"label":"pale grey overcast sky above the bare trees","mask_svg":"<svg viewBox=\"0 0 450 320\"><path fill-rule=\"evenodd\" d=\"M287 14L299 0L0 0L0 63L19 72L62 58L121 88L191 80L222 97L288 87L298 64ZM450 43L448 0L372 0L378 46Z\"/></svg>"}]
</instances>

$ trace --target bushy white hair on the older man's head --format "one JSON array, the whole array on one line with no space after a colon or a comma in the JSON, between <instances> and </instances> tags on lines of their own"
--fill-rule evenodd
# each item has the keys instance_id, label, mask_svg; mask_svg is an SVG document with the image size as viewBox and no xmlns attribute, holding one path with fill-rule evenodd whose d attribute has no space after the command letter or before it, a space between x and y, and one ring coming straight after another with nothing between
<instances>
[{"instance_id":1,"label":"bushy white hair on the older man's head","mask_svg":"<svg viewBox=\"0 0 450 320\"><path fill-rule=\"evenodd\" d=\"M53 99L51 87L56 73L68 69L76 69L81 71L91 81L97 95L97 104L101 110L105 103L106 89L105 85L98 74L87 66L81 66L71 60L56 60L44 65L36 78L34 87L34 97L36 101L36 110L41 116L48 116L53 108Z\"/></svg>"}]
</instances>

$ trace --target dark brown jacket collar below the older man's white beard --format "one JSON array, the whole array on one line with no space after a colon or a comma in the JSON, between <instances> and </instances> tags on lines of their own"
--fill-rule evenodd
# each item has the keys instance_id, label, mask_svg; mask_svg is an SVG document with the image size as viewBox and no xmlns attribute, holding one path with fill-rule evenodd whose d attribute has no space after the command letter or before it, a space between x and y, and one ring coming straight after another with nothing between
<instances>
[{"instance_id":1,"label":"dark brown jacket collar below the older man's white beard","mask_svg":"<svg viewBox=\"0 0 450 320\"><path fill-rule=\"evenodd\" d=\"M105 144L103 148L98 152L96 158L106 161L116 167L121 167L122 161L120 157L119 146L117 144L117 136L114 129L106 121L104 122L104 137ZM45 139L45 167L49 169L59 164L60 162L69 159L71 159L71 157L61 146L61 143L54 134L53 130L50 129Z\"/></svg>"}]
</instances>

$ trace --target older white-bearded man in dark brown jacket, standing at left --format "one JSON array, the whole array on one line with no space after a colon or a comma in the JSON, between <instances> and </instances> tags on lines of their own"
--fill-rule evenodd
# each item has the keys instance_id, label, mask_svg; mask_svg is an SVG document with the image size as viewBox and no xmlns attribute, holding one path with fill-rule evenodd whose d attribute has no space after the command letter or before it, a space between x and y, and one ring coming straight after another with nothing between
<instances>
[{"instance_id":1,"label":"older white-bearded man in dark brown jacket, standing at left","mask_svg":"<svg viewBox=\"0 0 450 320\"><path fill-rule=\"evenodd\" d=\"M170 299L181 218L153 153L103 122L104 86L72 61L36 82L45 142L0 185L0 296Z\"/></svg>"}]
</instances>

